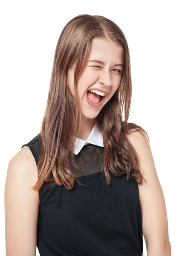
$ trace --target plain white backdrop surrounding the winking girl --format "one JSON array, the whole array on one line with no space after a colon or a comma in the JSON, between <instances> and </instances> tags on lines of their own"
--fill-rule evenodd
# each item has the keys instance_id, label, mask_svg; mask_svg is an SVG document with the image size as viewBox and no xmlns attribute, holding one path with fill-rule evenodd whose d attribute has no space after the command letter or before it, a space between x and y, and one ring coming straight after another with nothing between
<instances>
[{"instance_id":1,"label":"plain white backdrop surrounding the winking girl","mask_svg":"<svg viewBox=\"0 0 183 256\"><path fill-rule=\"evenodd\" d=\"M0 255L6 255L3 204L7 166L21 146L40 131L58 38L66 23L80 14L102 15L113 20L127 38L133 85L128 122L148 132L166 201L172 256L182 255L183 10L180 3L1 2Z\"/></svg>"}]
</instances>

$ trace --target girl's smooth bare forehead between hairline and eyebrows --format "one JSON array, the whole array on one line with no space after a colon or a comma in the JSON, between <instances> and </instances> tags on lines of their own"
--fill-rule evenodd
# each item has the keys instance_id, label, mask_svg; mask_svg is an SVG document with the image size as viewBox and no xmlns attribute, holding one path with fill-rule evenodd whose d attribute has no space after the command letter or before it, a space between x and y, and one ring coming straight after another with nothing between
<instances>
[{"instance_id":1,"label":"girl's smooth bare forehead between hairline and eyebrows","mask_svg":"<svg viewBox=\"0 0 183 256\"><path fill-rule=\"evenodd\" d=\"M94 38L89 55L90 59L120 63L124 61L123 47L110 39Z\"/></svg>"}]
</instances>

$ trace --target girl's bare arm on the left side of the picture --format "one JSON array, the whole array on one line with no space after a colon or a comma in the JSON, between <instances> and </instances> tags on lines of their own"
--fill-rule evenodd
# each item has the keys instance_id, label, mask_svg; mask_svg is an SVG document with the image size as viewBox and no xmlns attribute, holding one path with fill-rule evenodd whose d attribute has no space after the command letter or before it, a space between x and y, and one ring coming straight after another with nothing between
<instances>
[{"instance_id":1,"label":"girl's bare arm on the left side of the picture","mask_svg":"<svg viewBox=\"0 0 183 256\"><path fill-rule=\"evenodd\" d=\"M27 146L9 161L5 184L6 256L35 256L39 209L37 165Z\"/></svg>"}]
</instances>

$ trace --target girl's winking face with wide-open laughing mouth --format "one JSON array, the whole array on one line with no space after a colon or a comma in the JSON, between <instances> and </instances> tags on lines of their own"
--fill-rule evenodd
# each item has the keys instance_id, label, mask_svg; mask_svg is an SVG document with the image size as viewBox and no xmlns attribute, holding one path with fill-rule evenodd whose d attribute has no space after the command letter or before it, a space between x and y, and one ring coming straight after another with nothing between
<instances>
[{"instance_id":1,"label":"girl's winking face with wide-open laughing mouth","mask_svg":"<svg viewBox=\"0 0 183 256\"><path fill-rule=\"evenodd\" d=\"M94 62L94 61L95 62ZM96 62L102 61L102 63ZM78 81L78 96L81 105L82 119L95 119L98 116L104 105L111 99L116 92L121 81L121 71L123 66L124 53L123 48L111 40L94 38L90 51L90 56L87 60L86 68ZM74 94L74 73L73 69L68 72L68 82L71 92ZM101 100L101 103L91 103L87 100L87 91L92 89L105 90L106 96ZM89 93L89 97L93 96ZM93 93L94 95L96 93ZM90 99L97 102L96 96ZM98 106L99 105L99 106ZM85 120L86 121L86 120Z\"/></svg>"}]
</instances>

